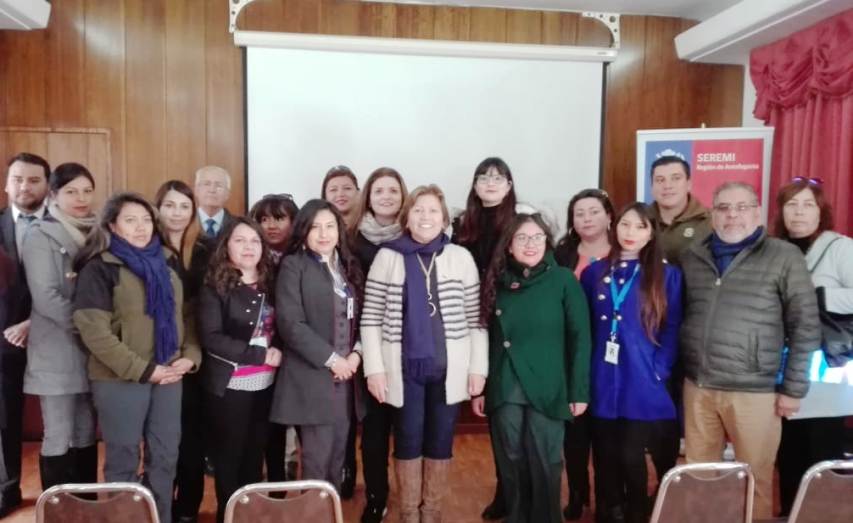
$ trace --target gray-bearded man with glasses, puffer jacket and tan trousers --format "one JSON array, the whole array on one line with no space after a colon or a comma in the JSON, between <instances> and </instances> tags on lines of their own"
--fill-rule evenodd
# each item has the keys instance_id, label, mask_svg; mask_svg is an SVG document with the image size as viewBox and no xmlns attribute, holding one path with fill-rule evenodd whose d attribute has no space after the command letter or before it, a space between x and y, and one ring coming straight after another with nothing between
<instances>
[{"instance_id":1,"label":"gray-bearded man with glasses, puffer jacket and tan trousers","mask_svg":"<svg viewBox=\"0 0 853 523\"><path fill-rule=\"evenodd\" d=\"M754 517L766 519L781 420L806 395L809 353L820 346L817 298L797 247L761 226L752 186L718 187L711 222L681 257L687 461L720 461L728 438L755 474Z\"/></svg>"}]
</instances>

